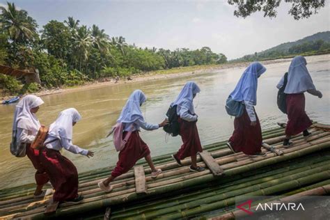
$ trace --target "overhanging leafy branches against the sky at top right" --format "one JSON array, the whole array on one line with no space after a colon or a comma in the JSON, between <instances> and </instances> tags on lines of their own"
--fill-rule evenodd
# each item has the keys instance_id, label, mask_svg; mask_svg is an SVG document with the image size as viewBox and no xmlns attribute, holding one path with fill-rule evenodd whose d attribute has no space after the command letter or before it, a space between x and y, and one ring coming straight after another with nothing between
<instances>
[{"instance_id":1,"label":"overhanging leafy branches against the sky at top right","mask_svg":"<svg viewBox=\"0 0 330 220\"><path fill-rule=\"evenodd\" d=\"M292 1L284 0L285 3L291 3L292 8L289 10L289 14L294 17L294 19L299 20L301 18L308 18L311 15L316 14L320 8L325 6L324 0L301 0ZM257 11L262 10L264 17L276 17L276 8L280 6L281 0L228 0L230 5L237 6L237 10L234 11L236 17L248 17Z\"/></svg>"}]
</instances>

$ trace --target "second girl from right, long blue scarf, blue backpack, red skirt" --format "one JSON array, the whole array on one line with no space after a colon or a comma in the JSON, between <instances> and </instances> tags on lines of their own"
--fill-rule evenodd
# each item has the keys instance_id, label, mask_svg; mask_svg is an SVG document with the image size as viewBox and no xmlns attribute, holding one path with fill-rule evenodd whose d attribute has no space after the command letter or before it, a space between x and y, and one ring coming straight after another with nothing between
<instances>
[{"instance_id":1,"label":"second girl from right, long blue scarf, blue backpack, red skirt","mask_svg":"<svg viewBox=\"0 0 330 220\"><path fill-rule=\"evenodd\" d=\"M253 106L257 104L258 78L266 68L258 62L251 63L230 93L233 100L244 104L242 116L234 120L234 132L227 145L233 152L242 151L251 157L266 156L261 152L260 122Z\"/></svg>"}]
</instances>

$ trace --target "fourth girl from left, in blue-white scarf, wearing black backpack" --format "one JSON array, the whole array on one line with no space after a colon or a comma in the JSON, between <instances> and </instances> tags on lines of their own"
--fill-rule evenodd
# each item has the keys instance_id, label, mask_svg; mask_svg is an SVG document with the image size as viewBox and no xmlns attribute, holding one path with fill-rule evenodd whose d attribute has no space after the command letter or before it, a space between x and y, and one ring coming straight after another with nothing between
<instances>
[{"instance_id":1,"label":"fourth girl from left, in blue-white scarf, wearing black backpack","mask_svg":"<svg viewBox=\"0 0 330 220\"><path fill-rule=\"evenodd\" d=\"M172 157L179 166L182 166L180 162L181 159L191 157L191 166L189 169L193 172L205 170L205 168L197 166L196 158L197 152L203 152L196 126L198 116L195 113L193 104L194 97L200 91L201 89L194 81L188 81L176 100L171 104L171 107L177 105L178 121L180 125L179 134L183 142L181 148L175 155L172 155Z\"/></svg>"}]
</instances>

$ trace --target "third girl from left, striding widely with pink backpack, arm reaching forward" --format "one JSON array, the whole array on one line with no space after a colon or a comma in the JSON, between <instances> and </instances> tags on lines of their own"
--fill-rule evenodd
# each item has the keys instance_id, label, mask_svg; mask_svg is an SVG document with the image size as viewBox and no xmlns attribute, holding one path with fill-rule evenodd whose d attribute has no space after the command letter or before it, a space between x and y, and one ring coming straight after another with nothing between
<instances>
[{"instance_id":1,"label":"third girl from left, striding widely with pink backpack, arm reaching forward","mask_svg":"<svg viewBox=\"0 0 330 220\"><path fill-rule=\"evenodd\" d=\"M112 190L112 186L110 182L112 182L116 177L122 175L123 173L127 173L130 168L132 168L135 163L144 157L148 162L151 168L151 177L157 178L157 175L162 173L161 169L156 169L152 159L150 157L150 150L146 143L143 142L139 135L139 129L142 127L146 130L154 130L159 127L163 127L168 122L164 120L159 125L152 125L146 123L142 116L141 105L143 102L146 102L146 95L143 94L142 91L136 90L134 91L128 98L123 111L121 111L120 116L117 120L117 123L124 123L124 132L123 139L128 132L132 132L125 144L123 150L119 152L119 160L117 162L116 168L111 172L111 176L102 182L99 182L97 185L105 192L109 192Z\"/></svg>"}]
</instances>

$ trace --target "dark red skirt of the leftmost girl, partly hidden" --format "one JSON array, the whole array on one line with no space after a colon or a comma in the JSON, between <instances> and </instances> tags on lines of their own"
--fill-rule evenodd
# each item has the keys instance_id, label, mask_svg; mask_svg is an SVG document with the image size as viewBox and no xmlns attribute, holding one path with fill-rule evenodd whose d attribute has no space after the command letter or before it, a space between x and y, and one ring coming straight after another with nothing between
<instances>
[{"instance_id":1,"label":"dark red skirt of the leftmost girl, partly hidden","mask_svg":"<svg viewBox=\"0 0 330 220\"><path fill-rule=\"evenodd\" d=\"M42 166L39 159L39 150L31 148L31 144L26 144L26 155L31 160L34 168L36 168L36 174L34 178L36 179L37 185L46 184L49 181L48 174L45 171L45 168Z\"/></svg>"}]
</instances>

